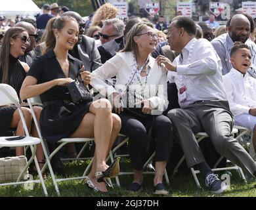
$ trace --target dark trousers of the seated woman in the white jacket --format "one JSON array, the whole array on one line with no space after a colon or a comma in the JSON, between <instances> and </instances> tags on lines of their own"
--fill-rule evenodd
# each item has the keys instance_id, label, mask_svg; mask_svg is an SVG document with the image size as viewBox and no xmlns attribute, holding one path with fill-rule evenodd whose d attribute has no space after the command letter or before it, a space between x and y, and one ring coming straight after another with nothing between
<instances>
[{"instance_id":1,"label":"dark trousers of the seated woman in the white jacket","mask_svg":"<svg viewBox=\"0 0 256 210\"><path fill-rule=\"evenodd\" d=\"M142 170L150 137L155 139L156 161L168 161L173 146L173 126L163 115L137 117L121 113L121 134L129 137L129 155L133 169ZM150 131L150 132L149 132Z\"/></svg>"}]
</instances>

